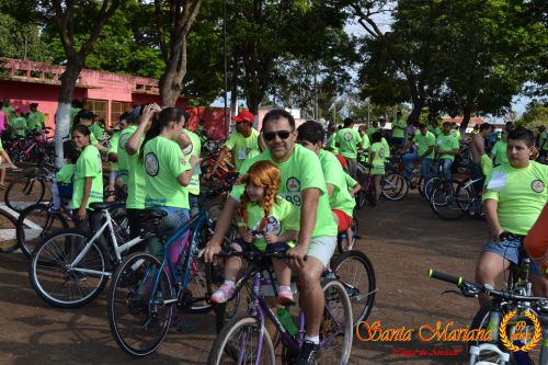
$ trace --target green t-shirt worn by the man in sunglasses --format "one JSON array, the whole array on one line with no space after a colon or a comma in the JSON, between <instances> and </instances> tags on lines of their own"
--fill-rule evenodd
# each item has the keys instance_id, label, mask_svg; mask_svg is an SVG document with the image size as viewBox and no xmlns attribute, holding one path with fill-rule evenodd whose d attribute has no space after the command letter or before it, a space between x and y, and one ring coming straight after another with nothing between
<instances>
[{"instance_id":1,"label":"green t-shirt worn by the man in sunglasses","mask_svg":"<svg viewBox=\"0 0 548 365\"><path fill-rule=\"evenodd\" d=\"M295 150L293 151L292 157L287 161L276 163L272 160L270 150L266 150L253 159L246 161L240 170L240 173L244 174L254 162L261 160L271 161L279 169L282 174L282 184L279 185L278 194L289 203L293 203L293 205L299 209L301 204L301 191L306 189L318 189L320 191L318 216L316 218L312 237L336 237L338 229L329 206L326 181L323 179L323 174L318 173L319 171L322 171L318 156L300 145L295 145ZM243 189L244 186L241 184L235 185L230 196L240 201Z\"/></svg>"}]
</instances>

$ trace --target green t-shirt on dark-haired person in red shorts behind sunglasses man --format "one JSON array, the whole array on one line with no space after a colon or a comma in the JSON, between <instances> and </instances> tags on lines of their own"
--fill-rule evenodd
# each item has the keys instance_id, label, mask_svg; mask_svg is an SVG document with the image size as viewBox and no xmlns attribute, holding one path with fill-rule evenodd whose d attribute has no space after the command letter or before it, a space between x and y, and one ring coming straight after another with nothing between
<instances>
[{"instance_id":1,"label":"green t-shirt on dark-haired person in red shorts behind sunglasses man","mask_svg":"<svg viewBox=\"0 0 548 365\"><path fill-rule=\"evenodd\" d=\"M356 201L349 193L349 185L341 162L333 153L324 150L320 151L319 158L326 184L333 185L333 194L329 198L331 209L342 210L352 217Z\"/></svg>"}]
</instances>

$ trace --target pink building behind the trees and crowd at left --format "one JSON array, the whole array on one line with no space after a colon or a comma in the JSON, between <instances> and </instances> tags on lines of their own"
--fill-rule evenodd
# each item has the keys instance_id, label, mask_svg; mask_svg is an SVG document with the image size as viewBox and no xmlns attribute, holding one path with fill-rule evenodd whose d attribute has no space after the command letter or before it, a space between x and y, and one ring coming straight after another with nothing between
<instances>
[{"instance_id":1,"label":"pink building behind the trees and crowd at left","mask_svg":"<svg viewBox=\"0 0 548 365\"><path fill-rule=\"evenodd\" d=\"M55 112L61 82L59 76L64 66L32 62L20 59L0 59L0 98L9 98L11 106L23 112L31 103L38 103L38 110L46 116L46 125L55 127ZM104 119L105 126L113 126L118 116L134 105L156 102L160 104L158 80L136 76L83 69L78 79L73 99L81 100L84 107ZM186 98L180 98L176 107L186 106ZM213 139L225 139L222 109L193 107L191 129L199 119ZM229 114L230 115L230 114Z\"/></svg>"}]
</instances>

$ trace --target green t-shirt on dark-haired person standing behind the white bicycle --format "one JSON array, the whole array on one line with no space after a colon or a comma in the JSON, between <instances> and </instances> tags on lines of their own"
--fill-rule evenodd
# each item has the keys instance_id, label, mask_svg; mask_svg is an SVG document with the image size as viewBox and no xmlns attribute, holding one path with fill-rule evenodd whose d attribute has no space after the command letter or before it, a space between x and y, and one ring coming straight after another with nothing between
<instances>
[{"instance_id":1,"label":"green t-shirt on dark-haired person standing behind the white bicycle","mask_svg":"<svg viewBox=\"0 0 548 365\"><path fill-rule=\"evenodd\" d=\"M76 162L72 203L70 205L72 209L80 208L82 204L85 178L91 178L90 198L85 206L85 208L89 208L90 203L103 202L103 167L101 153L94 146L85 147Z\"/></svg>"}]
</instances>

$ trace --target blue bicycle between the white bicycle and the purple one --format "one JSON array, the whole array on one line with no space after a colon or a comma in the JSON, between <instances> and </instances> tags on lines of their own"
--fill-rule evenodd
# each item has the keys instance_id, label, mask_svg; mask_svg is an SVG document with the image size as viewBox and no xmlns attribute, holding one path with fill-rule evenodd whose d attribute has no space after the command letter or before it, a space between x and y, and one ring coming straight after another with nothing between
<instances>
[{"instance_id":1,"label":"blue bicycle between the white bicycle and the purple one","mask_svg":"<svg viewBox=\"0 0 548 365\"><path fill-rule=\"evenodd\" d=\"M190 230L192 235L175 267L169 248ZM137 357L153 353L168 334L174 307L191 313L212 309L209 296L215 272L196 255L212 232L213 223L206 210L201 209L171 237L155 233L164 241L161 261L150 253L137 252L117 266L109 289L107 311L112 335L124 352ZM193 286L191 281L195 282Z\"/></svg>"}]
</instances>

